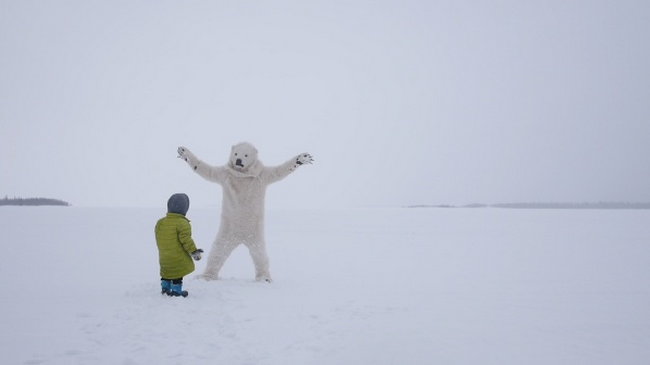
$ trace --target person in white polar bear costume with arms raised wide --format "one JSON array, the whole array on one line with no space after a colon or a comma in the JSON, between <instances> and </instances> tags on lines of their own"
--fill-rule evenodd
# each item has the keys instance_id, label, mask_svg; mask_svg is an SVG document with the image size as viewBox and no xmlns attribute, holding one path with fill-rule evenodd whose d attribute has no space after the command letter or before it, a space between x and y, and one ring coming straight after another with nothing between
<instances>
[{"instance_id":1,"label":"person in white polar bear costume with arms raised wide","mask_svg":"<svg viewBox=\"0 0 650 365\"><path fill-rule=\"evenodd\" d=\"M178 148L178 157L185 160L194 172L223 188L219 232L208 255L206 268L199 277L217 279L228 256L243 244L253 259L255 280L270 283L269 259L264 241L266 187L287 177L299 166L311 164L311 155L301 153L282 165L266 167L257 158L257 149L243 142L232 146L230 159L223 166L211 166L185 147Z\"/></svg>"}]
</instances>

